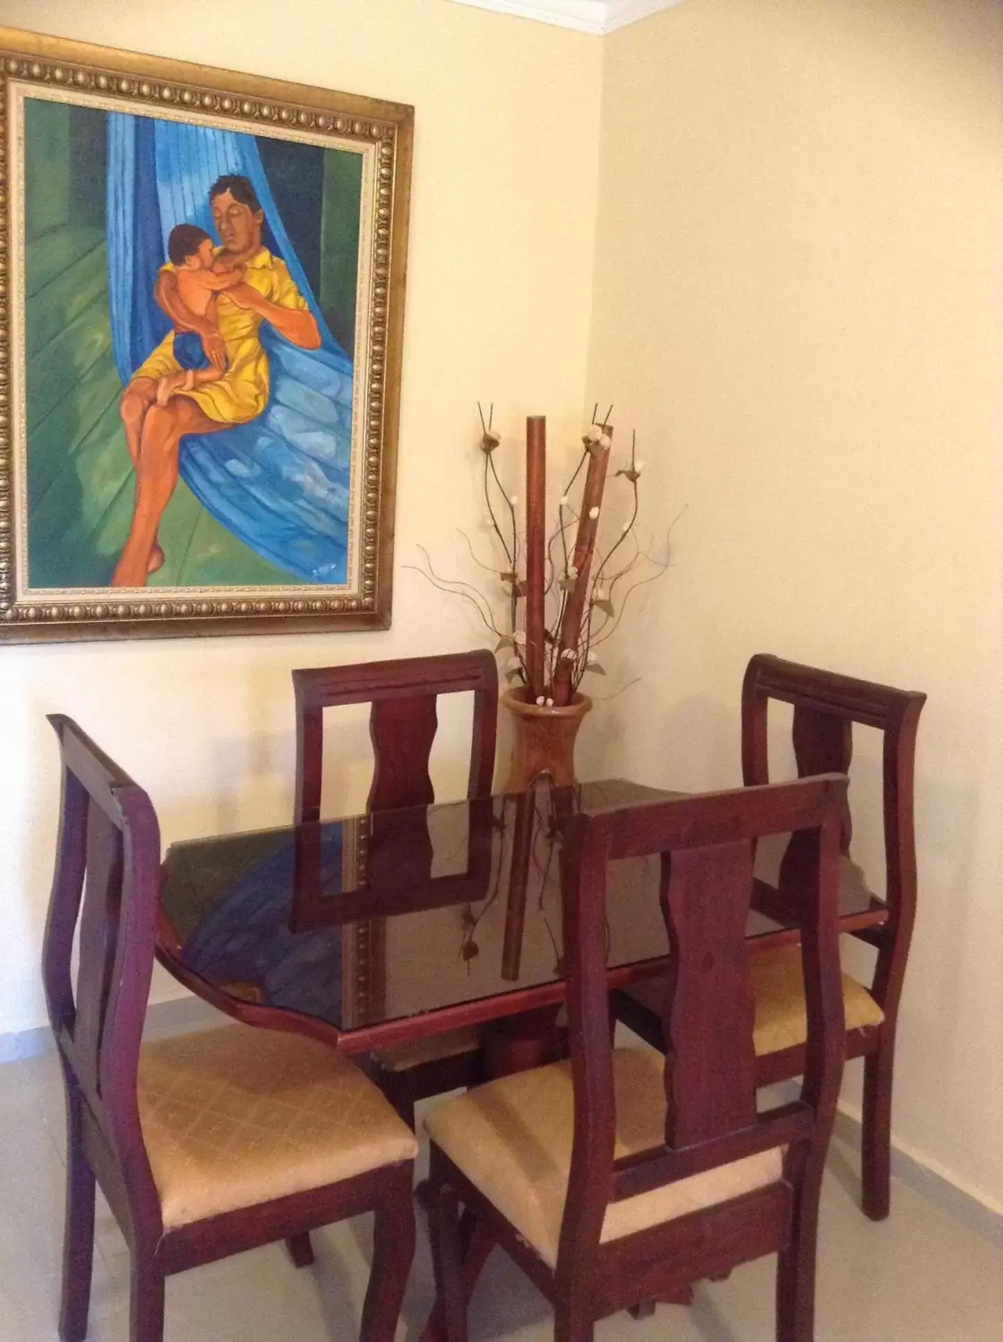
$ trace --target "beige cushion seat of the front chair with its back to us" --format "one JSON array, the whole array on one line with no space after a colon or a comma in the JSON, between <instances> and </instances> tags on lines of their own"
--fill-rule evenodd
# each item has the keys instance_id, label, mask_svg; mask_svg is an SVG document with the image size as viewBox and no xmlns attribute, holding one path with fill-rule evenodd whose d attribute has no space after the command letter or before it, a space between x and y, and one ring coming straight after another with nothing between
<instances>
[{"instance_id":1,"label":"beige cushion seat of the front chair with its back to us","mask_svg":"<svg viewBox=\"0 0 1003 1342\"><path fill-rule=\"evenodd\" d=\"M665 1141L665 1059L651 1049L612 1055L616 1157ZM533 1245L557 1263L573 1129L571 1063L504 1076L439 1106L431 1139ZM764 1188L780 1178L781 1151L764 1151L706 1174L610 1205L603 1241Z\"/></svg>"}]
</instances>

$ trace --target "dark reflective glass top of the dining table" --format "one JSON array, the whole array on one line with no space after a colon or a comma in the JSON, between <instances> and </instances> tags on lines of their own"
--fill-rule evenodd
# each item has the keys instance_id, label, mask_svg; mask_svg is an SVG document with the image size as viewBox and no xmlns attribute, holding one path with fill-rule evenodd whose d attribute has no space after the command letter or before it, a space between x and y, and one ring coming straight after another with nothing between
<instances>
[{"instance_id":1,"label":"dark reflective glass top of the dining table","mask_svg":"<svg viewBox=\"0 0 1003 1342\"><path fill-rule=\"evenodd\" d=\"M226 997L338 1032L559 982L563 821L666 800L623 780L444 803L173 844L161 949ZM764 849L759 867L776 854ZM608 965L667 956L658 856L611 862ZM845 862L841 914L882 909ZM784 911L749 914L771 937Z\"/></svg>"}]
</instances>

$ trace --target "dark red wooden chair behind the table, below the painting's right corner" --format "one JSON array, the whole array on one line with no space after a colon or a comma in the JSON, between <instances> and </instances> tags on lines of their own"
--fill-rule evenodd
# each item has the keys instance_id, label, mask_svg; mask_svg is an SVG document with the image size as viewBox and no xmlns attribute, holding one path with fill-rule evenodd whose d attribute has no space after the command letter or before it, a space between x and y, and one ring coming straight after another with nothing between
<instances>
[{"instance_id":1,"label":"dark red wooden chair behind the table, below the painting's right corner","mask_svg":"<svg viewBox=\"0 0 1003 1342\"><path fill-rule=\"evenodd\" d=\"M486 650L442 656L310 667L293 672L297 719L294 824L320 820L324 710L369 703L373 778L368 809L424 807L440 694L473 691L469 797L489 797L498 722L498 668ZM410 1127L415 1103L483 1078L477 1029L457 1029L373 1053L371 1076Z\"/></svg>"}]
</instances>

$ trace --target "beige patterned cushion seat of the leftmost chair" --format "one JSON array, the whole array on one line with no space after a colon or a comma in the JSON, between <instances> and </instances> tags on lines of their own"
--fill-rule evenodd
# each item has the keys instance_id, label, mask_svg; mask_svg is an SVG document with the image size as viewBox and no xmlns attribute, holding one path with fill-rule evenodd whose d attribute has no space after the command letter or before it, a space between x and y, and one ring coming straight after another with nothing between
<instances>
[{"instance_id":1,"label":"beige patterned cushion seat of the leftmost chair","mask_svg":"<svg viewBox=\"0 0 1003 1342\"><path fill-rule=\"evenodd\" d=\"M140 1118L165 1229L418 1154L348 1057L248 1025L145 1044Z\"/></svg>"}]
</instances>

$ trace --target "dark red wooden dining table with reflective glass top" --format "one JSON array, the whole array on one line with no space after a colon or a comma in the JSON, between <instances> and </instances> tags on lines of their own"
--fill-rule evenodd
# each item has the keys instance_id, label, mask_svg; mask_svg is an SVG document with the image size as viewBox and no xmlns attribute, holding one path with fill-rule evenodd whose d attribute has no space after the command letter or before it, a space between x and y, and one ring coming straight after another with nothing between
<instances>
[{"instance_id":1,"label":"dark red wooden dining table with reflective glass top","mask_svg":"<svg viewBox=\"0 0 1003 1342\"><path fill-rule=\"evenodd\" d=\"M544 778L526 792L172 843L157 958L230 1016L345 1053L477 1025L486 1079L541 1066L567 1053L560 848L569 817L679 796L623 778L564 788ZM757 844L749 954L799 939L799 895L779 875L784 848L785 836ZM611 990L666 976L662 886L657 855L608 863ZM886 921L888 906L843 854L841 931ZM416 1196L424 1200L423 1185ZM491 1240L465 1213L461 1243L471 1291ZM443 1339L436 1299L420 1342Z\"/></svg>"}]
</instances>

